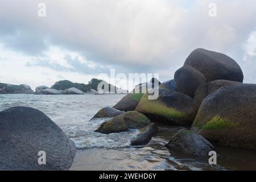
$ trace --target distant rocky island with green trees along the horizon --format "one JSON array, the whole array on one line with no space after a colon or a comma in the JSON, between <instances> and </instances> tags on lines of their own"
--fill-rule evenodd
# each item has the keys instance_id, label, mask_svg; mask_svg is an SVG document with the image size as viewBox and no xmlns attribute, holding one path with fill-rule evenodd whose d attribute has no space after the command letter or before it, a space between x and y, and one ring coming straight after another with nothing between
<instances>
[{"instance_id":1,"label":"distant rocky island with green trees along the horizon","mask_svg":"<svg viewBox=\"0 0 256 182\"><path fill-rule=\"evenodd\" d=\"M13 84L5 84L0 83L0 94L84 94L84 93L93 93L93 94L105 94L106 92L100 92L97 89L98 84L100 84L103 80L98 80L93 78L88 84L80 84L74 83L69 80L61 80L55 82L54 85L49 88L48 86L38 86L34 90L31 89L29 85L13 85ZM105 82L105 81L104 81ZM105 82L104 85L108 85L108 90L114 90L113 93L127 93L127 91L122 90L121 88L117 88L114 85L108 84ZM102 88L104 89L104 88ZM122 91L122 92L121 92ZM111 93L111 92L107 92Z\"/></svg>"}]
</instances>

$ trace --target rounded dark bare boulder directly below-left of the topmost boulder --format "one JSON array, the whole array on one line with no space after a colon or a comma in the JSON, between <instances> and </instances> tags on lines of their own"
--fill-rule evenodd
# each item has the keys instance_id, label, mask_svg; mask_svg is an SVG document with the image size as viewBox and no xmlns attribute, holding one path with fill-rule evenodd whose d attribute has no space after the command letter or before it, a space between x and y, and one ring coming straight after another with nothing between
<instances>
[{"instance_id":1,"label":"rounded dark bare boulder directly below-left of the topmost boulder","mask_svg":"<svg viewBox=\"0 0 256 182\"><path fill-rule=\"evenodd\" d=\"M189 65L184 65L175 72L174 80L177 85L177 91L194 97L196 89L206 83L205 76L196 71Z\"/></svg>"}]
</instances>

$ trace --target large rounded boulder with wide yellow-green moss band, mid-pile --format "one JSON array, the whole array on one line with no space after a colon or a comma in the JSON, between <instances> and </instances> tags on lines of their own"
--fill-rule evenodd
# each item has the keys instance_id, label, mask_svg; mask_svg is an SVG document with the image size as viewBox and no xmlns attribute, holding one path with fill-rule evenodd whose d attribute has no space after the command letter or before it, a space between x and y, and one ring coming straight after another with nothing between
<instances>
[{"instance_id":1,"label":"large rounded boulder with wide yellow-green moss band, mid-pile","mask_svg":"<svg viewBox=\"0 0 256 182\"><path fill-rule=\"evenodd\" d=\"M135 110L146 115L153 122L191 125L199 108L197 102L175 90L159 89L158 91L157 100L148 100L150 94L144 94Z\"/></svg>"}]
</instances>

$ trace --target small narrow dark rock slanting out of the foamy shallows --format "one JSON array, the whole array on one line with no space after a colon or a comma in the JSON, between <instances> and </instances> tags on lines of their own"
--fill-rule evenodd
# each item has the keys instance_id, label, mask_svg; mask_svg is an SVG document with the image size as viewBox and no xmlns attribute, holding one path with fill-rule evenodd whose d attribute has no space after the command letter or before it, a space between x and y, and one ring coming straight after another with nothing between
<instances>
[{"instance_id":1,"label":"small narrow dark rock slanting out of the foamy shallows","mask_svg":"<svg viewBox=\"0 0 256 182\"><path fill-rule=\"evenodd\" d=\"M140 131L141 133L131 140L132 146L142 146L150 142L151 138L158 134L158 127L155 123L151 123L150 125L143 127Z\"/></svg>"}]
</instances>

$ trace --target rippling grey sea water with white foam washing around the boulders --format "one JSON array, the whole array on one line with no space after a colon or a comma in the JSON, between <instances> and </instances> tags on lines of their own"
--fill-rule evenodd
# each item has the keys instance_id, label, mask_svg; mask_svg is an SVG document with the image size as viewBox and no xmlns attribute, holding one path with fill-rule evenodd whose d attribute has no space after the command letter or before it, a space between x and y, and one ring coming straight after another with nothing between
<instances>
[{"instance_id":1,"label":"rippling grey sea water with white foam washing around the boulders","mask_svg":"<svg viewBox=\"0 0 256 182\"><path fill-rule=\"evenodd\" d=\"M78 148L71 170L256 170L256 152L215 146L217 165L208 158L183 155L164 145L182 127L159 125L159 134L146 146L130 146L138 130L117 134L94 132L105 119L90 118L102 107L115 105L123 95L33 95L0 94L0 111L14 106L43 111Z\"/></svg>"}]
</instances>

